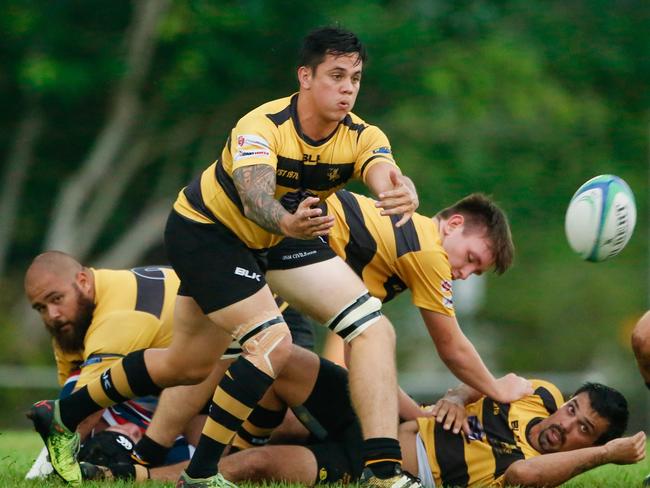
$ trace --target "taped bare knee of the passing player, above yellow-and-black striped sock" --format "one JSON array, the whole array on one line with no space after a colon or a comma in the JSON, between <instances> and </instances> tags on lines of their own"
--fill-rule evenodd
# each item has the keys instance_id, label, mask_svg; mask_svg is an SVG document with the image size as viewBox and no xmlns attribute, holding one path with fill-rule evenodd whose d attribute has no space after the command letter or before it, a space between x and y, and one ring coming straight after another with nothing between
<instances>
[{"instance_id":1,"label":"taped bare knee of the passing player, above yellow-and-black striped sock","mask_svg":"<svg viewBox=\"0 0 650 488\"><path fill-rule=\"evenodd\" d=\"M291 355L291 333L281 315L244 324L236 332L242 355L256 368L277 377Z\"/></svg>"}]
</instances>

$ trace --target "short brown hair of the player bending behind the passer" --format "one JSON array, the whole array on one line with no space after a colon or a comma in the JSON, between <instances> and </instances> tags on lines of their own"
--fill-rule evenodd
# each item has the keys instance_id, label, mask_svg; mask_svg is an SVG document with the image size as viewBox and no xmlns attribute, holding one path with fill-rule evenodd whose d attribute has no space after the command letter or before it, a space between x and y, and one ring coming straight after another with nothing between
<instances>
[{"instance_id":1,"label":"short brown hair of the player bending behind the passer","mask_svg":"<svg viewBox=\"0 0 650 488\"><path fill-rule=\"evenodd\" d=\"M512 242L508 217L503 210L483 193L472 193L451 207L441 210L436 217L448 219L455 214L460 214L465 219L464 233L486 233L490 250L494 254L494 269L497 274L505 273L515 258L515 245Z\"/></svg>"}]
</instances>

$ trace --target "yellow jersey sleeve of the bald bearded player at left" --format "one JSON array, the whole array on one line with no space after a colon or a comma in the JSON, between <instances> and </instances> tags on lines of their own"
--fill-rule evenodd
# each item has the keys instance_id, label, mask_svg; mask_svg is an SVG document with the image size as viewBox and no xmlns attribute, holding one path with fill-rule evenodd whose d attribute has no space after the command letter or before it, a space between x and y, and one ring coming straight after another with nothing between
<instances>
[{"instance_id":1,"label":"yellow jersey sleeve of the bald bearded player at left","mask_svg":"<svg viewBox=\"0 0 650 488\"><path fill-rule=\"evenodd\" d=\"M98 378L130 352L150 347L160 328L153 315L138 311L107 314L86 335L84 360L77 388Z\"/></svg>"}]
</instances>

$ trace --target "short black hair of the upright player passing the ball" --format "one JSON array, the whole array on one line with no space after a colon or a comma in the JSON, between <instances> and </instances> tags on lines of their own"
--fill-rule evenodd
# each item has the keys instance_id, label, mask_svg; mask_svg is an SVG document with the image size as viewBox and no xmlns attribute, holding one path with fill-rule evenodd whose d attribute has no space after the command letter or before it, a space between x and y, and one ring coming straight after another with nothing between
<instances>
[{"instance_id":1,"label":"short black hair of the upright player passing the ball","mask_svg":"<svg viewBox=\"0 0 650 488\"><path fill-rule=\"evenodd\" d=\"M328 54L341 56L353 53L359 55L359 61L366 62L366 48L356 34L339 27L319 27L303 40L298 66L308 66L315 70Z\"/></svg>"}]
</instances>

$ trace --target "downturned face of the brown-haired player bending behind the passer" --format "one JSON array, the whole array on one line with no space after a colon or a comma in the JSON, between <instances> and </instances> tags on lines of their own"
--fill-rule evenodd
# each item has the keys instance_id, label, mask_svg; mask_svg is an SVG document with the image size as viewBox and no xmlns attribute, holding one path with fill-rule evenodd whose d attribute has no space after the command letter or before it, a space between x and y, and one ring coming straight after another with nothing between
<instances>
[{"instance_id":1,"label":"downturned face of the brown-haired player bending behind the passer","mask_svg":"<svg viewBox=\"0 0 650 488\"><path fill-rule=\"evenodd\" d=\"M482 231L469 231L462 223L447 227L442 247L447 252L452 279L465 280L490 269L494 256L489 244Z\"/></svg>"}]
</instances>

